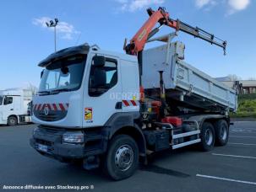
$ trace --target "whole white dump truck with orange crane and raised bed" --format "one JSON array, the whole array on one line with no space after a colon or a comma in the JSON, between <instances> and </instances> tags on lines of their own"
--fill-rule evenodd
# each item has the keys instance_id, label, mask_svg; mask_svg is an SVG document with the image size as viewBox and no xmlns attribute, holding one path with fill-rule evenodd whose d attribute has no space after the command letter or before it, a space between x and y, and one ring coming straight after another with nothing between
<instances>
[{"instance_id":1,"label":"whole white dump truck with orange crane and raised bed","mask_svg":"<svg viewBox=\"0 0 256 192\"><path fill-rule=\"evenodd\" d=\"M148 10L150 19L126 54L79 45L57 51L39 63L39 92L32 120L38 124L31 147L64 163L83 161L112 179L131 176L147 155L198 144L204 151L225 146L229 112L237 109L235 90L184 61L178 30L226 48L199 28L172 20L164 8ZM156 23L160 27L152 29ZM167 25L171 35L151 37ZM160 45L144 50L144 44Z\"/></svg>"}]
</instances>

